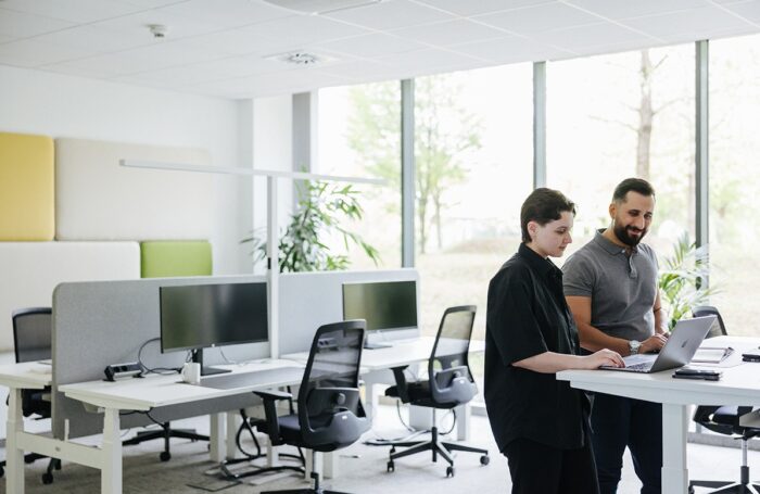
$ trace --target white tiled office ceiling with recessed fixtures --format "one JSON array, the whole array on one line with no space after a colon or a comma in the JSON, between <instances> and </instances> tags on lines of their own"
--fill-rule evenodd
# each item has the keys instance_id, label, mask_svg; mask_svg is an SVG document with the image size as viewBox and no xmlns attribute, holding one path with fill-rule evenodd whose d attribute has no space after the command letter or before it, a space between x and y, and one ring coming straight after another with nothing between
<instances>
[{"instance_id":1,"label":"white tiled office ceiling with recessed fixtures","mask_svg":"<svg viewBox=\"0 0 760 494\"><path fill-rule=\"evenodd\" d=\"M231 99L751 33L760 0L0 0L0 64Z\"/></svg>"}]
</instances>

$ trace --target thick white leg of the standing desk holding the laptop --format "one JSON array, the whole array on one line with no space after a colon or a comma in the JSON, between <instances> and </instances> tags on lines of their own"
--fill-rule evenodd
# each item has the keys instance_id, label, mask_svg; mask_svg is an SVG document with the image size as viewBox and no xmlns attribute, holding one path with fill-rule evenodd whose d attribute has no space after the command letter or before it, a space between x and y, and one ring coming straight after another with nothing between
<instances>
[{"instance_id":1,"label":"thick white leg of the standing desk holding the laptop","mask_svg":"<svg viewBox=\"0 0 760 494\"><path fill-rule=\"evenodd\" d=\"M685 405L662 404L662 492L686 493L688 469L686 440L688 414Z\"/></svg>"}]
</instances>

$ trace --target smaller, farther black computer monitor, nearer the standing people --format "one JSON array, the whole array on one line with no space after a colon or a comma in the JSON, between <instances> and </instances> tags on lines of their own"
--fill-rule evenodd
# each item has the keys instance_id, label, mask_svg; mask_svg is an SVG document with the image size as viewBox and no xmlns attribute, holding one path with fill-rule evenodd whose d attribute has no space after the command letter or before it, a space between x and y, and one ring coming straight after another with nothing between
<instances>
[{"instance_id":1,"label":"smaller, farther black computer monitor, nearer the standing people","mask_svg":"<svg viewBox=\"0 0 760 494\"><path fill-rule=\"evenodd\" d=\"M365 319L369 333L416 329L417 282L343 283L343 319Z\"/></svg>"}]
</instances>

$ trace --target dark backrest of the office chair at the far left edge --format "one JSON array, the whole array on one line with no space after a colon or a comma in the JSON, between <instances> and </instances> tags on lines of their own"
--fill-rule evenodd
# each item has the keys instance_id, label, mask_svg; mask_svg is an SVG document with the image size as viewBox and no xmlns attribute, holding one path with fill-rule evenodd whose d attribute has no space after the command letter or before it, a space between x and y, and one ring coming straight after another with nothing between
<instances>
[{"instance_id":1,"label":"dark backrest of the office chair at the far left edge","mask_svg":"<svg viewBox=\"0 0 760 494\"><path fill-rule=\"evenodd\" d=\"M13 347L16 362L43 360L51 357L52 309L31 307L14 311Z\"/></svg>"}]
</instances>

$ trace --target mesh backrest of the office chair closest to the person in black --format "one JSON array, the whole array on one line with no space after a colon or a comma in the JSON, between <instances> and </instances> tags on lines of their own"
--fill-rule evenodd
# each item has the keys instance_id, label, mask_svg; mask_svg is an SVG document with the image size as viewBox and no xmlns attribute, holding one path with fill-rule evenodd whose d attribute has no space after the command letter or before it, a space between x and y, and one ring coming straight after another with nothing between
<instances>
[{"instance_id":1,"label":"mesh backrest of the office chair closest to the person in black","mask_svg":"<svg viewBox=\"0 0 760 494\"><path fill-rule=\"evenodd\" d=\"M478 393L468 362L476 308L461 305L443 313L428 360L430 392L436 404L461 405Z\"/></svg>"}]
</instances>

